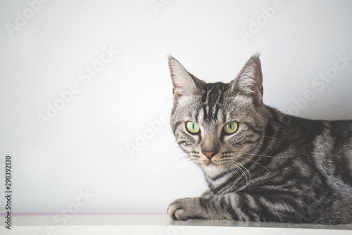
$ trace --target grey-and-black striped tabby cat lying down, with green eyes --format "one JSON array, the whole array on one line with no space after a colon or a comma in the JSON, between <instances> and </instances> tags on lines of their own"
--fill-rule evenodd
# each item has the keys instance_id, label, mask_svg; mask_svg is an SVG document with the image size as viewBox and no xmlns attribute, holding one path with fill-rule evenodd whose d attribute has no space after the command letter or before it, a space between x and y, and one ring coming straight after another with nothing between
<instances>
[{"instance_id":1,"label":"grey-and-black striped tabby cat lying down, with green eyes","mask_svg":"<svg viewBox=\"0 0 352 235\"><path fill-rule=\"evenodd\" d=\"M352 223L352 120L285 115L263 103L252 56L230 83L206 83L169 57L177 144L208 190L181 198L173 220Z\"/></svg>"}]
</instances>

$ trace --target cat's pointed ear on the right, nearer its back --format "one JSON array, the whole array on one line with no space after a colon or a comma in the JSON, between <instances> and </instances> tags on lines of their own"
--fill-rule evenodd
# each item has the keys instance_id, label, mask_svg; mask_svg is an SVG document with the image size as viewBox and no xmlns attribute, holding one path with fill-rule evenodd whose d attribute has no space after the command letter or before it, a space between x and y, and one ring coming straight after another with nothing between
<instances>
[{"instance_id":1,"label":"cat's pointed ear on the right, nearer its back","mask_svg":"<svg viewBox=\"0 0 352 235\"><path fill-rule=\"evenodd\" d=\"M262 99L263 75L259 55L252 56L241 68L239 75L230 83L233 92L255 96Z\"/></svg>"}]
</instances>

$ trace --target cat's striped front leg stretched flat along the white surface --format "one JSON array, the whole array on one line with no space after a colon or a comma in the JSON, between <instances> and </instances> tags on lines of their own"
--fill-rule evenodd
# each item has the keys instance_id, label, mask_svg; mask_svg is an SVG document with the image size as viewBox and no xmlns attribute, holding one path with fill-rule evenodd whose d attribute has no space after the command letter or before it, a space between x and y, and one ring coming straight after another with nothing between
<instances>
[{"instance_id":1,"label":"cat's striped front leg stretched flat along the white surface","mask_svg":"<svg viewBox=\"0 0 352 235\"><path fill-rule=\"evenodd\" d=\"M172 220L242 220L262 222L311 222L303 220L302 198L291 194L269 193L270 197L246 193L206 195L200 198L181 198L169 205ZM275 206L272 206L275 198ZM300 205L301 206L298 206Z\"/></svg>"}]
</instances>

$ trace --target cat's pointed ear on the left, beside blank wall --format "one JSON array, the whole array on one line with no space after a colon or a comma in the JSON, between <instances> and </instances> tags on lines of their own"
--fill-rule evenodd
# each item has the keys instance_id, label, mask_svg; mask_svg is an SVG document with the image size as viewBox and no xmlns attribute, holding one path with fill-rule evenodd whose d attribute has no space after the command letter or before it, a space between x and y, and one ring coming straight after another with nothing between
<instances>
[{"instance_id":1,"label":"cat's pointed ear on the left, beside blank wall","mask_svg":"<svg viewBox=\"0 0 352 235\"><path fill-rule=\"evenodd\" d=\"M181 96L193 96L201 90L201 85L205 82L191 75L172 56L169 56L169 68L172 80L172 94L175 99Z\"/></svg>"}]
</instances>

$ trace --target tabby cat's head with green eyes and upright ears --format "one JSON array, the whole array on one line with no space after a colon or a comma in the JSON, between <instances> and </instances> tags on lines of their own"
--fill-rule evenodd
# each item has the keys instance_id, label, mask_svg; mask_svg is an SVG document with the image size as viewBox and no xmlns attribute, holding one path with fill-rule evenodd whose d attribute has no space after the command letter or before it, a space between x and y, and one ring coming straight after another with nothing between
<instances>
[{"instance_id":1,"label":"tabby cat's head with green eyes and upright ears","mask_svg":"<svg viewBox=\"0 0 352 235\"><path fill-rule=\"evenodd\" d=\"M252 56L230 83L197 79L169 58L174 106L170 124L191 160L210 173L251 158L266 126L260 60Z\"/></svg>"}]
</instances>

